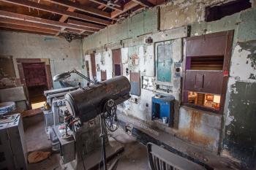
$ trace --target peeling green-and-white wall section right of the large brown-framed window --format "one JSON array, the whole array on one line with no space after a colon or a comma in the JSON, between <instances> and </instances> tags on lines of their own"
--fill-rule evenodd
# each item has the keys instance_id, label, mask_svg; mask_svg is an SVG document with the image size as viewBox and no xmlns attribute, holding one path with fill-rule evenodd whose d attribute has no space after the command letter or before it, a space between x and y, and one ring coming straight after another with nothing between
<instances>
[{"instance_id":1,"label":"peeling green-and-white wall section right of the large brown-framed window","mask_svg":"<svg viewBox=\"0 0 256 170\"><path fill-rule=\"evenodd\" d=\"M241 12L228 82L223 155L256 165L256 9Z\"/></svg>"}]
</instances>

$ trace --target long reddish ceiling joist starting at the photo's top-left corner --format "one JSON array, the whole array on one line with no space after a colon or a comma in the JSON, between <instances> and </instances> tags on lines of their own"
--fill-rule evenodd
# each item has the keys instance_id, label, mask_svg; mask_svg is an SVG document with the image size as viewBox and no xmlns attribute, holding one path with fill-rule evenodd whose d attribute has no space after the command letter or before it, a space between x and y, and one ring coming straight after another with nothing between
<instances>
[{"instance_id":1,"label":"long reddish ceiling joist starting at the photo's top-left corner","mask_svg":"<svg viewBox=\"0 0 256 170\"><path fill-rule=\"evenodd\" d=\"M108 20L102 20L102 19L99 19L99 18L90 17L88 15L82 15L82 14L75 13L75 12L69 12L69 11L59 9L59 8L55 8L55 7L49 7L45 4L39 4L39 3L34 2L34 1L28 1L28 0L0 0L0 1L4 1L4 2L7 2L9 4L20 5L20 6L23 6L23 7L31 7L31 8L34 8L34 9L39 9L39 10L46 11L46 12L52 12L52 13L59 14L59 15L67 15L67 16L72 17L72 18L77 18L77 19L80 19L80 20L87 20L87 21L94 22L94 23L100 23L100 24L103 24L103 25L106 25L106 26L111 24L111 22L108 21Z\"/></svg>"}]
</instances>

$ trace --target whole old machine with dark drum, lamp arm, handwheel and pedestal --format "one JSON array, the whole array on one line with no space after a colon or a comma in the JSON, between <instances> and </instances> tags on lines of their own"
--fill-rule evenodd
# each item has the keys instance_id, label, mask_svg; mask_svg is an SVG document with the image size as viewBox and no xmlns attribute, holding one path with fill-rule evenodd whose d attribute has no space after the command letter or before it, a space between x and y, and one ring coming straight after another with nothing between
<instances>
[{"instance_id":1,"label":"whole old machine with dark drum, lamp arm, handwheel and pedestal","mask_svg":"<svg viewBox=\"0 0 256 170\"><path fill-rule=\"evenodd\" d=\"M69 169L81 169L82 167L83 169L89 169L85 166L84 161L86 159L83 158L83 152L89 152L86 151L86 148L97 148L99 140L102 147L102 163L106 170L105 147L109 148L106 129L116 131L118 128L119 121L116 108L118 104L129 99L131 85L127 77L124 76L97 82L96 80L90 80L75 69L57 74L53 77L53 80L65 80L72 73L80 75L89 83L87 84L88 87L79 87L76 90L69 91L64 96L67 110L64 110L61 114L64 116L65 130L61 132L61 125L54 127L61 145L62 162L67 163ZM91 122L95 123L94 126L90 125ZM90 134L90 131L94 131L91 132L93 135ZM94 134L98 134L100 138Z\"/></svg>"}]
</instances>

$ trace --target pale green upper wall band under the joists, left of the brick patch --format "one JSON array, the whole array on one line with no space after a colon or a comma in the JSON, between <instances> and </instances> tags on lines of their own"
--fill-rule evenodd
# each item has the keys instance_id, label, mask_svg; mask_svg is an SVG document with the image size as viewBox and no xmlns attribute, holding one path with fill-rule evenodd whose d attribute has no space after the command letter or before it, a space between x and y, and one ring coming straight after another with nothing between
<instances>
[{"instance_id":1,"label":"pale green upper wall band under the joists, left of the brick patch","mask_svg":"<svg viewBox=\"0 0 256 170\"><path fill-rule=\"evenodd\" d=\"M158 30L158 9L143 10L121 23L99 31L84 40L84 50L91 50L110 43L119 43L124 39L133 39L137 36L155 33Z\"/></svg>"}]
</instances>

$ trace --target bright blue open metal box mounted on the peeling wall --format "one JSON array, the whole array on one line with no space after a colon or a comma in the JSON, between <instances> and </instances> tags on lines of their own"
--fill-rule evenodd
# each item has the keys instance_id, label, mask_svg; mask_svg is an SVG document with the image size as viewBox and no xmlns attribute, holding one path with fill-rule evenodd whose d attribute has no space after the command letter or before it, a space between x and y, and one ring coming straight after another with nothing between
<instances>
[{"instance_id":1,"label":"bright blue open metal box mounted on the peeling wall","mask_svg":"<svg viewBox=\"0 0 256 170\"><path fill-rule=\"evenodd\" d=\"M152 97L151 119L162 120L163 117L167 117L168 126L173 127L174 101L173 96Z\"/></svg>"}]
</instances>

